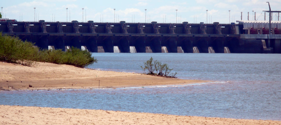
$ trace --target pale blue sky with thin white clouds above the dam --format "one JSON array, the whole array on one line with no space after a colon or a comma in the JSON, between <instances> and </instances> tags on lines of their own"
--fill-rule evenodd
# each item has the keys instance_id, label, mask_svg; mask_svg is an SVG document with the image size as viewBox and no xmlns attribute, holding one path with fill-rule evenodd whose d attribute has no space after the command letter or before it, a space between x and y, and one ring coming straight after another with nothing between
<instances>
[{"instance_id":1,"label":"pale blue sky with thin white clouds above the dam","mask_svg":"<svg viewBox=\"0 0 281 125\"><path fill-rule=\"evenodd\" d=\"M229 23L236 20L264 20L263 10L281 10L281 0L1 0L3 18L45 22L152 22ZM34 15L34 8L35 15ZM68 9L66 9L68 8ZM82 10L84 8L84 10ZM114 8L115 16L114 16ZM145 9L146 16L145 16ZM178 10L178 11L176 11ZM208 12L206 12L208 10ZM230 10L230 15L229 15ZM208 13L208 18L207 18ZM177 16L178 17L177 17ZM266 20L269 20L266 13ZM280 13L281 16L281 13ZM115 17L115 19L114 19ZM146 17L146 19L145 19ZM69 19L70 18L70 19ZM273 14L273 20L278 20ZM281 20L281 17L279 17Z\"/></svg>"}]
</instances>

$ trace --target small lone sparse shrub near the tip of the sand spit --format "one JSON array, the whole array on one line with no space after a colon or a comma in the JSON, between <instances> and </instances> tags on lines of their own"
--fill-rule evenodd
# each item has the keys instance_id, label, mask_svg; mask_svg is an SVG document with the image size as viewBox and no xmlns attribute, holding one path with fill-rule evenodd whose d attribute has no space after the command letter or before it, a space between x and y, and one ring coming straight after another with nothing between
<instances>
[{"instance_id":1,"label":"small lone sparse shrub near the tip of the sand spit","mask_svg":"<svg viewBox=\"0 0 281 125\"><path fill-rule=\"evenodd\" d=\"M149 74L149 75L158 75L158 76L168 77L168 78L177 78L177 77L175 77L175 75L177 73L171 73L171 71L173 69L169 68L166 63L162 64L157 60L155 60L153 62L152 57L149 60L147 60L144 63L144 67L141 66L141 68L144 72L147 70L148 71L147 74ZM155 73L155 71L156 71L156 73Z\"/></svg>"}]
</instances>

